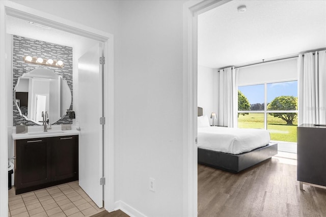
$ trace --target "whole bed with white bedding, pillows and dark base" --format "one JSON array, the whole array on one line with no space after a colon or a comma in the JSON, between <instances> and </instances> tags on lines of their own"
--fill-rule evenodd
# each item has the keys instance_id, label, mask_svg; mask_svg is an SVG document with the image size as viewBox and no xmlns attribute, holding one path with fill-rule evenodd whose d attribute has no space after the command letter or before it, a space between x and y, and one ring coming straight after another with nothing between
<instances>
[{"instance_id":1,"label":"whole bed with white bedding, pillows and dark base","mask_svg":"<svg viewBox=\"0 0 326 217\"><path fill-rule=\"evenodd\" d=\"M238 173L277 154L268 131L211 127L202 111L198 107L199 164Z\"/></svg>"}]
</instances>

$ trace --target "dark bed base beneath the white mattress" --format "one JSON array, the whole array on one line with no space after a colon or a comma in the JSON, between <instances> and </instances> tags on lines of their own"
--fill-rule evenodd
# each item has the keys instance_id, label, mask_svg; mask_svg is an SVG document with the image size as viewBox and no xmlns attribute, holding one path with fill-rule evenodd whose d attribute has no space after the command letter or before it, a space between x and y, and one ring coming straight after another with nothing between
<instances>
[{"instance_id":1,"label":"dark bed base beneath the white mattress","mask_svg":"<svg viewBox=\"0 0 326 217\"><path fill-rule=\"evenodd\" d=\"M217 169L238 173L277 154L277 143L256 148L249 152L230 154L198 148L198 163Z\"/></svg>"}]
</instances>

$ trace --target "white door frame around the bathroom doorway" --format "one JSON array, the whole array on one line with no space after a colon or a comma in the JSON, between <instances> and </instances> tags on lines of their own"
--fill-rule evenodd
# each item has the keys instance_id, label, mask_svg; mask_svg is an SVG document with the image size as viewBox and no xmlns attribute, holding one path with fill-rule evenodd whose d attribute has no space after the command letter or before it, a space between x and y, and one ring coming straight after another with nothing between
<instances>
[{"instance_id":1,"label":"white door frame around the bathroom doorway","mask_svg":"<svg viewBox=\"0 0 326 217\"><path fill-rule=\"evenodd\" d=\"M6 78L6 15L28 19L43 25L63 30L104 43L104 208L114 210L114 36L101 30L44 13L14 2L0 1L0 216L8 214L8 97ZM4 73L6 72L6 73Z\"/></svg>"}]
</instances>

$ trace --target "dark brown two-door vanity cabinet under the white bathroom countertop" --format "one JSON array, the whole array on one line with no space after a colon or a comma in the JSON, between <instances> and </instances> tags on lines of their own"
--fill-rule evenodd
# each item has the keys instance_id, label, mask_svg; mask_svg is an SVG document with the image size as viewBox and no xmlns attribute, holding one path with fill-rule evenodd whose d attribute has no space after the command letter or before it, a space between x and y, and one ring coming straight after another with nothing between
<instances>
[{"instance_id":1,"label":"dark brown two-door vanity cabinet under the white bathroom countertop","mask_svg":"<svg viewBox=\"0 0 326 217\"><path fill-rule=\"evenodd\" d=\"M78 180L78 136L15 140L16 194Z\"/></svg>"}]
</instances>

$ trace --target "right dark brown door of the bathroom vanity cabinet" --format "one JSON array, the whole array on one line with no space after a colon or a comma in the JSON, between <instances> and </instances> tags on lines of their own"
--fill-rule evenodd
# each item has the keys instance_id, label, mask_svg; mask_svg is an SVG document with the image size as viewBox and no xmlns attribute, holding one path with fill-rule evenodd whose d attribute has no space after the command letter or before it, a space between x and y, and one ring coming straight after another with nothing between
<instances>
[{"instance_id":1,"label":"right dark brown door of the bathroom vanity cabinet","mask_svg":"<svg viewBox=\"0 0 326 217\"><path fill-rule=\"evenodd\" d=\"M78 180L78 136L51 138L51 179Z\"/></svg>"}]
</instances>

